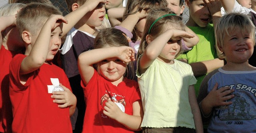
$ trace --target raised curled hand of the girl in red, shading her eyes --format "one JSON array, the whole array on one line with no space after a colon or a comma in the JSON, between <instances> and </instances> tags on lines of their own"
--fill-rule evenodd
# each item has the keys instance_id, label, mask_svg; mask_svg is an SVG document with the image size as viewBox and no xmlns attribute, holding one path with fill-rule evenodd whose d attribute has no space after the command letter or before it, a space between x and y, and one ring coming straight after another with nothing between
<instances>
[{"instance_id":1,"label":"raised curled hand of the girl in red, shading her eyes","mask_svg":"<svg viewBox=\"0 0 256 133\"><path fill-rule=\"evenodd\" d=\"M125 63L131 62L135 60L135 52L132 47L121 46L118 47L119 56L118 58Z\"/></svg>"}]
</instances>

